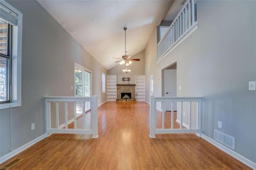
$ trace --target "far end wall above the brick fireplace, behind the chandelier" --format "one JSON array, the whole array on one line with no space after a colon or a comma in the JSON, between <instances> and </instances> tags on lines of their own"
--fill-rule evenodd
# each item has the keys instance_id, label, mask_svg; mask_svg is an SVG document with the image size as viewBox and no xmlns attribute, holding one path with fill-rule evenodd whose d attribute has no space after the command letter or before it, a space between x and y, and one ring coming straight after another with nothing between
<instances>
[{"instance_id":1,"label":"far end wall above the brick fireplace, behind the chandelier","mask_svg":"<svg viewBox=\"0 0 256 170\"><path fill-rule=\"evenodd\" d=\"M123 84L122 78L123 77L129 77L130 78L130 84L135 84L135 75L144 75L145 74L145 67L144 67L144 55L145 50L140 51L139 53L135 54L131 58L140 59L140 61L132 61L132 64L129 66L125 65L116 65L115 67L108 70L108 74L114 74L117 75L117 83ZM123 69L130 69L130 73L124 73L122 72ZM125 84L128 84L127 81L124 82Z\"/></svg>"}]
</instances>

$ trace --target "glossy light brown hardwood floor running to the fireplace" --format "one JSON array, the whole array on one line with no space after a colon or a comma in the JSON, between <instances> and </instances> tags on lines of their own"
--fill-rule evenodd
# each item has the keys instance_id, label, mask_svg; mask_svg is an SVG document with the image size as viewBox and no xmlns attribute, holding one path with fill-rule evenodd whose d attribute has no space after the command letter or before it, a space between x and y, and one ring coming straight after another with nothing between
<instances>
[{"instance_id":1,"label":"glossy light brown hardwood floor running to the fireplace","mask_svg":"<svg viewBox=\"0 0 256 170\"><path fill-rule=\"evenodd\" d=\"M161 127L160 112L157 118ZM12 169L36 170L250 169L195 134L149 138L149 105L145 102L101 105L98 134L97 139L82 134L52 134L6 162L24 159Z\"/></svg>"}]
</instances>

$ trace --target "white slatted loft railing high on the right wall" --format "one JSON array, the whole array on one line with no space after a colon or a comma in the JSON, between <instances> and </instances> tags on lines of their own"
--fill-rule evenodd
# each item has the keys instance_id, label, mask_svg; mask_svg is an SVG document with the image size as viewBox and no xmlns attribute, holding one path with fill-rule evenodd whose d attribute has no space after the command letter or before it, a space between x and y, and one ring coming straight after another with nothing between
<instances>
[{"instance_id":1,"label":"white slatted loft railing high on the right wall","mask_svg":"<svg viewBox=\"0 0 256 170\"><path fill-rule=\"evenodd\" d=\"M158 43L157 60L163 57L195 26L197 26L196 3L194 0L187 0Z\"/></svg>"}]
</instances>

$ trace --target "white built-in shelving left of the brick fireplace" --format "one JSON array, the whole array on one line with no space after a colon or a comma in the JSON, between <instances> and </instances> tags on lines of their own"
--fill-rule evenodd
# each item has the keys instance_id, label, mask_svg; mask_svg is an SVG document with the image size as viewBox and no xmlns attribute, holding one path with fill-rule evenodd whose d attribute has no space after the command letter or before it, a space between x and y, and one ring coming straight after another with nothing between
<instances>
[{"instance_id":1,"label":"white built-in shelving left of the brick fireplace","mask_svg":"<svg viewBox=\"0 0 256 170\"><path fill-rule=\"evenodd\" d=\"M116 75L107 75L107 100L116 101Z\"/></svg>"}]
</instances>

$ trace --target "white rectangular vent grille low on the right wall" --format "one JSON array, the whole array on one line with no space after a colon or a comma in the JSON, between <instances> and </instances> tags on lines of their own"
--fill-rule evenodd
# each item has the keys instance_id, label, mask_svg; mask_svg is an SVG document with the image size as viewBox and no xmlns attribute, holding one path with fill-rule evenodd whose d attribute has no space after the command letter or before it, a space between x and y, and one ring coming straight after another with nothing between
<instances>
[{"instance_id":1,"label":"white rectangular vent grille low on the right wall","mask_svg":"<svg viewBox=\"0 0 256 170\"><path fill-rule=\"evenodd\" d=\"M235 150L235 138L214 129L214 139Z\"/></svg>"}]
</instances>

